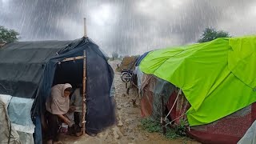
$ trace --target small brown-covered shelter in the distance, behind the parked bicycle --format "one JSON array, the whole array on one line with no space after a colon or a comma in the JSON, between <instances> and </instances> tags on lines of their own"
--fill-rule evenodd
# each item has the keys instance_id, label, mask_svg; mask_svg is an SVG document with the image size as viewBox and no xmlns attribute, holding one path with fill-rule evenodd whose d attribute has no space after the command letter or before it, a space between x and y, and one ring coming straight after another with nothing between
<instances>
[{"instance_id":1,"label":"small brown-covered shelter in the distance, behind the parked bicycle","mask_svg":"<svg viewBox=\"0 0 256 144\"><path fill-rule=\"evenodd\" d=\"M134 70L138 56L126 56L117 68L118 72L122 70Z\"/></svg>"}]
</instances>

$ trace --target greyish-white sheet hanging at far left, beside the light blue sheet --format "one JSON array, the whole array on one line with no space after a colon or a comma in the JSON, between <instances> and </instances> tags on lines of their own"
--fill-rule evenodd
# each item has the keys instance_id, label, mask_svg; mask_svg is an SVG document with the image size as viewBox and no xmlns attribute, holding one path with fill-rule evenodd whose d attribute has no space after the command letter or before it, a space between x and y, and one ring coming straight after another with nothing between
<instances>
[{"instance_id":1,"label":"greyish-white sheet hanging at far left, beside the light blue sheet","mask_svg":"<svg viewBox=\"0 0 256 144\"><path fill-rule=\"evenodd\" d=\"M10 96L0 94L0 143L8 143L10 136L10 144L20 144L19 136L14 128L11 128L10 119L6 107L10 102Z\"/></svg>"}]
</instances>

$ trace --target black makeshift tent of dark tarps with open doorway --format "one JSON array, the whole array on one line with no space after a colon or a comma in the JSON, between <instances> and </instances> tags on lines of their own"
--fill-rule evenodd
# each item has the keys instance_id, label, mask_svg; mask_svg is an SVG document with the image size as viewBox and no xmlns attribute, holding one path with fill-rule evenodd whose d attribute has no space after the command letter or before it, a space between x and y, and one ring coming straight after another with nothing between
<instances>
[{"instance_id":1,"label":"black makeshift tent of dark tarps with open doorway","mask_svg":"<svg viewBox=\"0 0 256 144\"><path fill-rule=\"evenodd\" d=\"M75 41L12 42L0 50L0 94L32 98L31 110L36 130L35 143L42 143L41 116L50 88L69 82L82 83L86 50L86 132L97 134L115 122L114 98L110 90L114 72L99 47L89 38ZM10 101L10 103L12 100ZM14 111L13 111L14 112ZM10 113L10 112L8 112Z\"/></svg>"}]
</instances>

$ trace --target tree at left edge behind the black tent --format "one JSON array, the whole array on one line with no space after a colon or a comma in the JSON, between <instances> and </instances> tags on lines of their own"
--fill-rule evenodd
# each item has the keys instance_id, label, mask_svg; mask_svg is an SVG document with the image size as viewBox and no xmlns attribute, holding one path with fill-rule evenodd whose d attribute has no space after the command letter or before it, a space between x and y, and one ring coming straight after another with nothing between
<instances>
[{"instance_id":1,"label":"tree at left edge behind the black tent","mask_svg":"<svg viewBox=\"0 0 256 144\"><path fill-rule=\"evenodd\" d=\"M17 41L18 35L15 30L8 30L4 26L0 26L0 43Z\"/></svg>"}]
</instances>

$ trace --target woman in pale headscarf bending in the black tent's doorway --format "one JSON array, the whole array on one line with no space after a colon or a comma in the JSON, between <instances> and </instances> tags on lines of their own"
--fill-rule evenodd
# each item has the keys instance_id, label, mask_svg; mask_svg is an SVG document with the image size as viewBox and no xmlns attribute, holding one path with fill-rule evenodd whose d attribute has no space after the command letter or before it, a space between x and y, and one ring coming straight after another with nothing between
<instances>
[{"instance_id":1,"label":"woman in pale headscarf bending in the black tent's doorway","mask_svg":"<svg viewBox=\"0 0 256 144\"><path fill-rule=\"evenodd\" d=\"M66 114L70 108L70 92L72 86L69 83L58 84L51 88L50 97L46 100L46 118L48 121L48 142L52 143L62 143L58 142L58 119L62 122L66 122L70 125L71 121L66 118Z\"/></svg>"}]
</instances>

